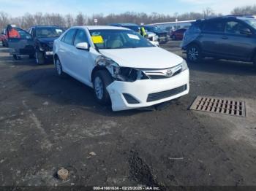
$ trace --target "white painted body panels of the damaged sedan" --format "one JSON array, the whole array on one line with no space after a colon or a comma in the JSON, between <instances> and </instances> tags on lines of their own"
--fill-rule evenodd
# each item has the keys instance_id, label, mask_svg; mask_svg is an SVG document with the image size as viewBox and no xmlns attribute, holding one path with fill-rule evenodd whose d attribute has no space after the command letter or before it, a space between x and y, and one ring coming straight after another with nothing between
<instances>
[{"instance_id":1,"label":"white painted body panels of the damaged sedan","mask_svg":"<svg viewBox=\"0 0 256 191\"><path fill-rule=\"evenodd\" d=\"M61 39L64 36L64 33L54 42L53 53L59 56L62 70L65 73L69 74L75 79L78 79L80 82L89 85L90 87L93 87L91 82L91 73L96 66L96 59L99 56L109 58L113 61L113 63L117 63L120 67L129 67L135 69L170 69L184 62L183 58L180 56L168 52L160 47L138 47L97 51L94 47L94 43L91 41L91 34L89 33L89 30L91 29L129 30L127 28L112 26L81 26L75 28L84 30L86 32L91 47L89 51L78 50L75 46L62 42ZM135 39L138 36L131 35L129 37ZM113 66L110 65L108 68L109 67ZM183 93L150 103L146 101L147 96L150 93L171 90L182 85L187 85L187 90ZM189 93L189 70L186 69L182 71L181 74L167 79L143 79L136 80L132 83L114 81L107 87L107 90L108 93L110 93L113 111L152 106L154 104L170 101ZM140 104L127 104L123 93L129 93L140 101Z\"/></svg>"}]
</instances>

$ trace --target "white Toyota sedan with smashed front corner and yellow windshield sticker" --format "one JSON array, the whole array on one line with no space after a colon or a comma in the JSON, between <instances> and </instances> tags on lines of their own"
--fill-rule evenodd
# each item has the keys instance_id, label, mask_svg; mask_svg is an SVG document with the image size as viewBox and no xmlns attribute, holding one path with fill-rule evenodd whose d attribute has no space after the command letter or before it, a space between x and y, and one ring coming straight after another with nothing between
<instances>
[{"instance_id":1,"label":"white Toyota sedan with smashed front corner and yellow windshield sticker","mask_svg":"<svg viewBox=\"0 0 256 191\"><path fill-rule=\"evenodd\" d=\"M170 101L189 93L183 58L155 47L127 28L77 26L53 44L59 76L69 74L94 88L100 104L113 111Z\"/></svg>"}]
</instances>

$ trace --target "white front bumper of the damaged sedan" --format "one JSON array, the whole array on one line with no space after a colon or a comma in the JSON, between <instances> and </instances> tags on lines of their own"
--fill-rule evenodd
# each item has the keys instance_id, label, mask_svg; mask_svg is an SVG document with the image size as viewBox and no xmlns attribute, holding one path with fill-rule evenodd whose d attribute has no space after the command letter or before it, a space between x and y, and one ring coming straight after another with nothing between
<instances>
[{"instance_id":1,"label":"white front bumper of the damaged sedan","mask_svg":"<svg viewBox=\"0 0 256 191\"><path fill-rule=\"evenodd\" d=\"M176 94L171 93L167 98L154 99L153 101L148 99L151 95L166 93L179 87L186 87L186 89ZM153 106L187 95L189 93L189 70L187 69L168 79L144 79L135 82L114 81L107 87L107 90L112 101L113 111ZM138 104L128 104L124 94L131 95L138 101Z\"/></svg>"}]
</instances>

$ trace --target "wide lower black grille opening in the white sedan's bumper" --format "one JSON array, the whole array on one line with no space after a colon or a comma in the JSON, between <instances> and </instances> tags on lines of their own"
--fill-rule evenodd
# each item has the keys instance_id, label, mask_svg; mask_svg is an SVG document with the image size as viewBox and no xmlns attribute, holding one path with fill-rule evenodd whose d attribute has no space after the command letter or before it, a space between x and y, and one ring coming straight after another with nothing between
<instances>
[{"instance_id":1,"label":"wide lower black grille opening in the white sedan's bumper","mask_svg":"<svg viewBox=\"0 0 256 191\"><path fill-rule=\"evenodd\" d=\"M175 89L166 90L159 93L151 93L148 95L147 102L158 101L164 98L169 98L173 95L177 95L178 93L182 93L185 90L187 90L187 85L183 85L181 87L177 87Z\"/></svg>"}]
</instances>

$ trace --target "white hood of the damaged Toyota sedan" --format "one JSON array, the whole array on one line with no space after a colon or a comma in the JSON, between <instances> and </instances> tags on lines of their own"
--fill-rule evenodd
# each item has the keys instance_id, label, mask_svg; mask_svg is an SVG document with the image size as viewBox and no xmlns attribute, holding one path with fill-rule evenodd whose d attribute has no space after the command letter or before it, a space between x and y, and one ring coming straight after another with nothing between
<instances>
[{"instance_id":1,"label":"white hood of the damaged Toyota sedan","mask_svg":"<svg viewBox=\"0 0 256 191\"><path fill-rule=\"evenodd\" d=\"M183 58L159 47L99 50L119 66L137 69L167 69L182 63Z\"/></svg>"}]
</instances>

